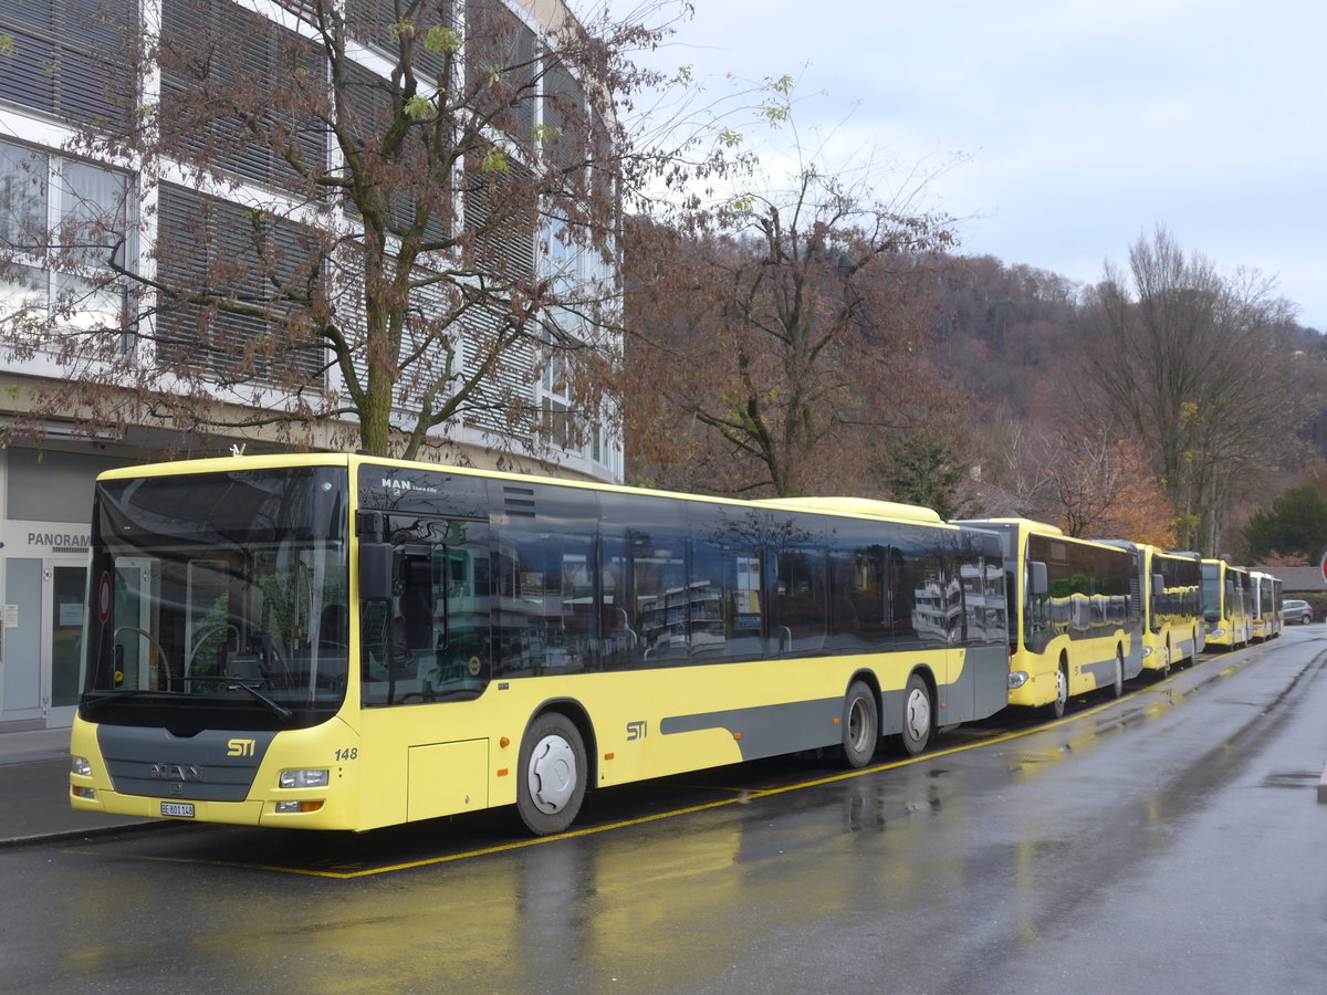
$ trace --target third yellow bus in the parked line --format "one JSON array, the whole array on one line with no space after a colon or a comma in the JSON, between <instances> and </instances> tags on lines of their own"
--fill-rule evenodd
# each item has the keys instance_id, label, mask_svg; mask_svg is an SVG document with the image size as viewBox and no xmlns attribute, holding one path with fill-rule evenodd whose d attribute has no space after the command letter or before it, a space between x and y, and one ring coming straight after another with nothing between
<instances>
[{"instance_id":1,"label":"third yellow bus in the parked line","mask_svg":"<svg viewBox=\"0 0 1327 995\"><path fill-rule=\"evenodd\" d=\"M1143 669L1160 674L1192 663L1206 645L1202 618L1202 557L1170 553L1147 543L1111 540L1133 553L1143 612Z\"/></svg>"}]
</instances>

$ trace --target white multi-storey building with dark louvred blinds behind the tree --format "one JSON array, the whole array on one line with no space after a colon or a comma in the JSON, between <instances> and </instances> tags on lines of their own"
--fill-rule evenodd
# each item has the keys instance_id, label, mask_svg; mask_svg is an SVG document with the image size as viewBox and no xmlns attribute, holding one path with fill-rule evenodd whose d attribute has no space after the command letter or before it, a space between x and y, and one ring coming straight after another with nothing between
<instances>
[{"instance_id":1,"label":"white multi-storey building with dark louvred blinds behind the tree","mask_svg":"<svg viewBox=\"0 0 1327 995\"><path fill-rule=\"evenodd\" d=\"M430 0L437 3L437 0ZM464 25L480 4L504 4L507 15L519 25L522 45L537 56L548 44L548 28L565 17L560 3L522 4L516 0L455 0L451 5L456 23ZM178 5L178 9L176 9ZM187 9L186 9L187 5ZM380 20L393 8L391 0L345 0L345 7L373 7ZM150 366L155 360L149 336L135 334L138 314L143 321L162 321L151 308L141 304L142 283L134 277L106 279L107 259L89 256L70 264L68 252L56 253L42 247L32 232L60 232L86 227L86 218L118 218L122 241L113 249L114 261L135 276L150 281L158 268L187 269L196 264L190 253L159 251L179 231L196 226L200 204L207 208L215 239L211 252L224 263L227 252L239 252L226 241L227 231L239 226L255 204L279 204L285 196L280 183L264 179L271 163L253 157L219 162L215 175L199 176L187 170L171 171L169 165L147 182L131 163L122 158L98 159L88 145L77 141L80 129L110 118L117 106L109 94L131 89L139 101L150 103L163 88L159 69L149 60L138 65L111 57L123 25L133 25L149 42L159 38L162 24L202 11L224 31L234 19L242 19L247 36L236 36L236 45L259 50L255 42L263 31L273 37L281 32L300 32L292 12L314 9L317 0L13 0L0 4L0 322L15 316L45 314L72 330L111 326L123 317L125 333L114 345L134 364ZM390 19L389 19L390 20ZM235 21L239 24L239 21ZM252 25L261 25L255 36ZM150 50L151 44L145 50ZM275 57L279 46L264 49ZM384 78L390 64L365 49L360 68ZM552 76L549 76L552 78ZM565 81L568 77L560 74ZM166 80L165 85L170 85ZM552 133L548 119L532 111L531 123ZM73 151L77 149L78 151ZM330 147L316 150L334 155ZM455 224L464 226L472 208L462 204ZM531 275L564 287L609 288L612 298L620 284L616 247L588 252L560 240L549 222L518 227L499 244L499 251L527 267ZM344 223L344 219L338 223ZM102 222L105 224L105 222ZM602 248L602 245L601 245ZM163 276L170 276L165 273ZM588 296L588 295L587 295ZM66 308L77 300L77 308ZM137 302L135 302L137 301ZM125 317L127 316L127 317ZM187 318L187 316L186 316ZM176 316L180 326L187 320ZM598 337L602 325L583 326L583 316L563 309L557 318L560 333ZM158 329L159 330L159 329ZM232 336L261 336L263 329L243 322L226 329ZM484 333L483 320L476 320L475 337ZM12 348L15 333L7 333L11 348L0 357L0 425L23 426L7 436L0 448L0 732L68 726L73 720L80 693L80 650L82 608L86 586L88 513L96 475L115 466L174 456L224 455L231 446L249 451L285 444L285 436L267 426L214 430L200 435L194 430L176 430L169 421L130 415L115 425L88 429L70 418L42 410L31 425L35 391L58 390L70 377L84 375L86 365L69 362L57 349L45 345L33 350ZM21 336L19 336L21 340ZM21 345L21 341L20 341ZM219 362L203 344L184 341L198 362ZM616 346L609 342L609 352ZM462 349L462 364L467 353ZM312 358L311 358L312 357ZM307 381L314 393L344 395L346 385L336 364L317 352L297 362L307 364ZM220 369L220 366L218 366ZM93 374L88 374L93 375ZM544 352L529 338L515 344L507 357L506 390L515 390L522 403L539 413L531 422L535 429L510 430L511 421L500 411L490 417L456 418L430 431L438 454L429 458L460 458L476 466L502 464L507 468L528 467L540 472L573 475L587 479L620 482L622 476L621 439L612 429L613 419L587 417L576 411L576 398L568 382L568 365L556 353ZM253 407L255 393L218 391L222 405L236 410ZM495 394L496 397L496 394ZM280 407L289 402L281 387L269 385L264 403ZM409 407L410 401L405 405ZM142 411L141 406L126 410ZM409 415L409 410L402 414ZM405 419L409 421L409 419ZM575 423L577 431L568 431ZM301 444L332 448L345 444L353 434L353 418L328 418L312 426ZM504 434L506 432L506 434Z\"/></svg>"}]
</instances>

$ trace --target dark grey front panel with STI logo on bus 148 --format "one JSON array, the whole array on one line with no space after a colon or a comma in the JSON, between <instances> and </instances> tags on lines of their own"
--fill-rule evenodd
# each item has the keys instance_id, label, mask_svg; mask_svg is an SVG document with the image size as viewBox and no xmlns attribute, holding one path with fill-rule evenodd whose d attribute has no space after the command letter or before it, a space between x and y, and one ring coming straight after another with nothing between
<instances>
[{"instance_id":1,"label":"dark grey front panel with STI logo on bus 148","mask_svg":"<svg viewBox=\"0 0 1327 995\"><path fill-rule=\"evenodd\" d=\"M182 801L243 801L273 731L203 730L173 736L163 728L100 726L97 743L115 791Z\"/></svg>"}]
</instances>

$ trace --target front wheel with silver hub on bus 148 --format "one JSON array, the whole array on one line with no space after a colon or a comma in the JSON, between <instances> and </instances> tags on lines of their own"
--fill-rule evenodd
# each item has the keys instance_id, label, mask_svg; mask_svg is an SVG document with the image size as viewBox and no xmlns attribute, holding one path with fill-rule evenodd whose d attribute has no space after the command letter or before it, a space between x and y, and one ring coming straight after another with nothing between
<instances>
[{"instance_id":1,"label":"front wheel with silver hub on bus 148","mask_svg":"<svg viewBox=\"0 0 1327 995\"><path fill-rule=\"evenodd\" d=\"M576 723L561 712L544 712L520 740L516 811L535 836L560 833L585 800L588 763Z\"/></svg>"}]
</instances>

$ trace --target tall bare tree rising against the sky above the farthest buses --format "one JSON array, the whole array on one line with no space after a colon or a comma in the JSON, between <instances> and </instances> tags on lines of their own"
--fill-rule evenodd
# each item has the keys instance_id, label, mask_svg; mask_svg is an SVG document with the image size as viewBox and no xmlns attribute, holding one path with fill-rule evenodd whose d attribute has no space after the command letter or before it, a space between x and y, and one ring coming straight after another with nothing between
<instances>
[{"instance_id":1,"label":"tall bare tree rising against the sky above the farthest buses","mask_svg":"<svg viewBox=\"0 0 1327 995\"><path fill-rule=\"evenodd\" d=\"M1107 267L1083 312L1101 425L1156 454L1178 544L1209 553L1233 498L1295 421L1291 308L1251 271L1221 273L1157 230Z\"/></svg>"}]
</instances>

